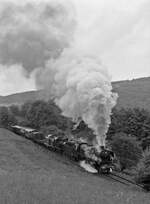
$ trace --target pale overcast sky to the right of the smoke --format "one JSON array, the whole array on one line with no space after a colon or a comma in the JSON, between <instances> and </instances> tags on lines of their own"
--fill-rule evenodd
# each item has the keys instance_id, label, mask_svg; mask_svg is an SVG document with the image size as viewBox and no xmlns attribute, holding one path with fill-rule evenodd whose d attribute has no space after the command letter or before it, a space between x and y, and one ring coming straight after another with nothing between
<instances>
[{"instance_id":1,"label":"pale overcast sky to the right of the smoke","mask_svg":"<svg viewBox=\"0 0 150 204\"><path fill-rule=\"evenodd\" d=\"M149 0L74 2L86 27L79 38L99 53L113 80L150 76Z\"/></svg>"}]
</instances>

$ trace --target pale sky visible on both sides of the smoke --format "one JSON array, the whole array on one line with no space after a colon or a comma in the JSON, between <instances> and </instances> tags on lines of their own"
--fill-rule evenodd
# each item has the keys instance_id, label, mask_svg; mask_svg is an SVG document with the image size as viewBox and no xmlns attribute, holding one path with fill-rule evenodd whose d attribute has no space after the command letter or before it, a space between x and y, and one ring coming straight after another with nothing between
<instances>
[{"instance_id":1,"label":"pale sky visible on both sides of the smoke","mask_svg":"<svg viewBox=\"0 0 150 204\"><path fill-rule=\"evenodd\" d=\"M150 76L149 0L62 2L72 2L75 10L72 13L76 19L74 46L100 57L109 70L112 81ZM65 24L64 28L68 25ZM70 35L68 30L67 32ZM43 37L47 38L47 35L43 33ZM0 35L0 41L1 38ZM8 64L0 65L0 95L35 89L34 71L27 77L22 74L20 64L11 65L11 69L7 66Z\"/></svg>"}]
</instances>

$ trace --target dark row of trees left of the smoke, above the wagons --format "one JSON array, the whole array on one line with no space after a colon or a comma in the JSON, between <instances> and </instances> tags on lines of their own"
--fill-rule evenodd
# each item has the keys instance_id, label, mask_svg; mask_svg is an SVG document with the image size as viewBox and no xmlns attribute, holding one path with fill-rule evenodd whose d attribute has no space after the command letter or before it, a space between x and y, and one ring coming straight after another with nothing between
<instances>
[{"instance_id":1,"label":"dark row of trees left of the smoke, above the wagons","mask_svg":"<svg viewBox=\"0 0 150 204\"><path fill-rule=\"evenodd\" d=\"M0 107L0 126L11 124L29 126L40 130L44 127L56 126L66 130L70 119L62 116L61 110L53 101L37 100L25 104Z\"/></svg>"}]
</instances>

